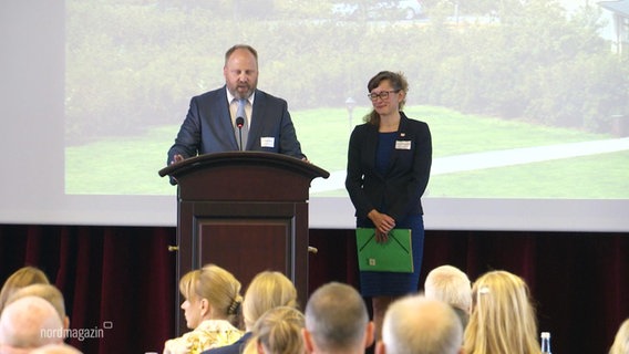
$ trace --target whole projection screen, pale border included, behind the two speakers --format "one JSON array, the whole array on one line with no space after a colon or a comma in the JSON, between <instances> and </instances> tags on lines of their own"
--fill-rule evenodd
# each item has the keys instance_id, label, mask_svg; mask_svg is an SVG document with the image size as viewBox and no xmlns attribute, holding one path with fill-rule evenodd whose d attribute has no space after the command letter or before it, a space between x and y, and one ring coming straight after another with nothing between
<instances>
[{"instance_id":1,"label":"whole projection screen, pale border included, behind the two speakers","mask_svg":"<svg viewBox=\"0 0 629 354\"><path fill-rule=\"evenodd\" d=\"M190 97L220 87L225 51L247 43L258 87L288 101L302 149L331 174L311 186L311 228L354 227L348 138L371 107L367 82L391 70L410 82L405 113L432 132L427 229L629 231L627 32L615 22L627 14L605 3L0 9L0 222L174 226L176 187L157 171Z\"/></svg>"}]
</instances>

